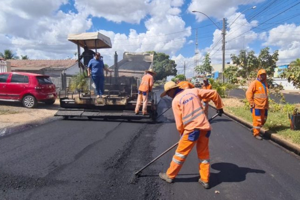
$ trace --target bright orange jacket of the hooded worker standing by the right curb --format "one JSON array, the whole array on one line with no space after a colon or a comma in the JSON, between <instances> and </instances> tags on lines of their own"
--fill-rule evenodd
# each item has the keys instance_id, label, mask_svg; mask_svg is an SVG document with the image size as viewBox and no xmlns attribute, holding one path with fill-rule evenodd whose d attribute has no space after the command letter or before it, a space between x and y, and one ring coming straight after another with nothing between
<instances>
[{"instance_id":1,"label":"bright orange jacket of the hooded worker standing by the right curb","mask_svg":"<svg viewBox=\"0 0 300 200\"><path fill-rule=\"evenodd\" d=\"M253 81L246 91L246 98L251 105L255 105L257 109L268 109L268 85L265 82L265 87L259 80Z\"/></svg>"}]
</instances>

